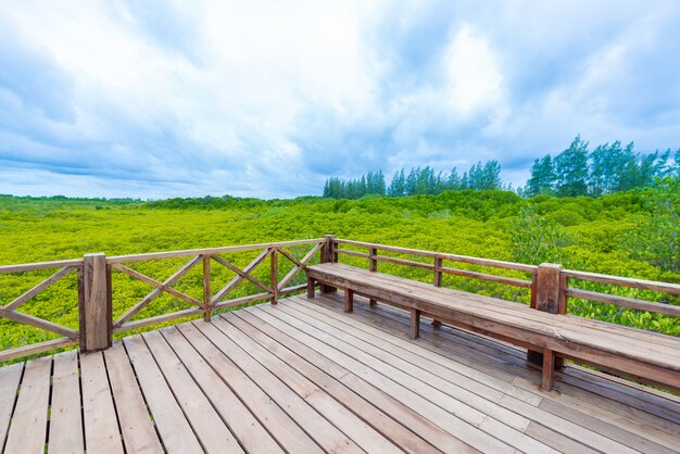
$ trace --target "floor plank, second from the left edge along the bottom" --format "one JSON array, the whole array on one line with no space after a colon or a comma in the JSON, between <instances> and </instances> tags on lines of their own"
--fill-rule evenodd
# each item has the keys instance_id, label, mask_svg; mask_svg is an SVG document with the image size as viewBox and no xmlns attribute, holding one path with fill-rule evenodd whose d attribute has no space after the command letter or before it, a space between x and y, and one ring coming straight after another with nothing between
<instances>
[{"instance_id":1,"label":"floor plank, second from the left edge along the bottom","mask_svg":"<svg viewBox=\"0 0 680 454\"><path fill-rule=\"evenodd\" d=\"M4 452L45 452L51 368L51 357L39 357L26 363Z\"/></svg>"}]
</instances>

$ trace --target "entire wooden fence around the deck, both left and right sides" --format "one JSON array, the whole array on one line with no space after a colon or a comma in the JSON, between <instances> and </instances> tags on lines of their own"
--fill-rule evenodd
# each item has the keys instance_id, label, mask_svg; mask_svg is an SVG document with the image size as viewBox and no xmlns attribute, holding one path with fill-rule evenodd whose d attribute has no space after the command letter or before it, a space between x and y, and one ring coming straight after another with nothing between
<instances>
[{"instance_id":1,"label":"entire wooden fence around the deck, both left and right sides","mask_svg":"<svg viewBox=\"0 0 680 454\"><path fill-rule=\"evenodd\" d=\"M298 258L290 251L288 251L288 249L292 247L311 247L311 249L303 257ZM353 248L354 250L347 248ZM356 251L356 249L365 249L366 252L360 252ZM243 268L237 267L219 255L243 251L260 251L260 254ZM392 253L392 256L386 255L386 253ZM0 317L62 336L59 339L46 342L4 350L0 352L0 362L73 344L79 344L83 351L102 350L111 345L113 335L117 332L124 332L149 325L155 325L201 314L205 320L210 320L212 312L217 308L236 306L255 301L264 301L267 299L270 300L273 304L276 304L279 298L301 291L305 288L305 285L290 286L290 283L299 273L305 270L306 266L316 256L316 254L318 254L319 262L337 262L340 255L366 258L368 261L368 267L373 272L378 270L378 263L380 262L430 270L432 272L432 283L437 287L442 286L442 277L444 275L454 275L505 286L526 288L530 292L531 307L553 314L567 314L568 300L570 298L578 298L639 311L680 316L680 306L677 305L625 298L569 287L569 283L572 280L580 280L680 295L680 285L677 283L576 272L563 269L561 265L555 264L541 264L538 266L526 265L466 255L423 251L363 241L352 241L327 235L319 239L300 241L154 252L110 257L105 256L103 253L97 253L86 254L83 258L77 260L0 266L0 274L21 274L41 269L56 269L56 272L49 278L24 292L9 304L0 306ZM402 256L393 256L394 254ZM418 257L420 260L425 257L431 261L431 263L404 258L403 255ZM153 279L128 266L129 264L137 262L181 257L186 257L188 261L171 277L163 281ZM290 272L287 273L281 279L279 279L278 269L280 257L290 261L293 265ZM268 282L262 281L253 275L253 272L266 262L269 264ZM452 266L446 266L448 264ZM517 277L461 269L453 267L453 264L478 265L481 267L501 270L518 272L519 274L526 274L527 278L521 279ZM211 267L214 265L224 266L235 274L234 278L226 286L219 289L213 288L214 282L211 279ZM203 295L201 299L193 298L186 292L181 292L174 288L174 286L184 276L186 276L189 270L198 266L202 267ZM115 319L112 311L113 270L153 287L151 292ZM73 272L77 273L78 278L77 330L17 311L17 308L20 308L27 301L32 300L38 293L45 291L47 288ZM261 291L245 297L229 299L232 290L243 281L251 282ZM163 293L171 294L176 299L190 304L191 307L172 313L159 314L148 318L135 319L135 316L141 310ZM372 304L375 303L376 301L372 300Z\"/></svg>"}]
</instances>

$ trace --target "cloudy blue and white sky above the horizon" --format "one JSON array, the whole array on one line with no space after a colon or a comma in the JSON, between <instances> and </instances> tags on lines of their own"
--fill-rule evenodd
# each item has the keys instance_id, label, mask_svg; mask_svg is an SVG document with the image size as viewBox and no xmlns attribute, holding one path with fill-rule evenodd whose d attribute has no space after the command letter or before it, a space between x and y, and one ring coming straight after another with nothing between
<instances>
[{"instance_id":1,"label":"cloudy blue and white sky above the horizon","mask_svg":"<svg viewBox=\"0 0 680 454\"><path fill-rule=\"evenodd\" d=\"M0 193L295 197L680 147L680 2L0 0Z\"/></svg>"}]
</instances>

